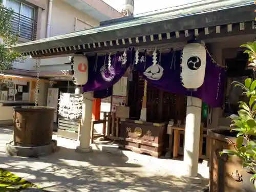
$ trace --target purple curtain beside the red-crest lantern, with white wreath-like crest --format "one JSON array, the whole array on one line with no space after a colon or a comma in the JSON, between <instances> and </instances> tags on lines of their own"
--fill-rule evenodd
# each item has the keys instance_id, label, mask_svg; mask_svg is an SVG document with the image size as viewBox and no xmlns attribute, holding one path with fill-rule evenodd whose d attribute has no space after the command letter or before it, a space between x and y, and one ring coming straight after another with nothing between
<instances>
[{"instance_id":1,"label":"purple curtain beside the red-crest lantern, with white wreath-like crest","mask_svg":"<svg viewBox=\"0 0 256 192\"><path fill-rule=\"evenodd\" d=\"M104 95L125 73L132 62L132 53L127 51L127 61L122 65L123 52L111 55L111 66L109 66L109 55L90 56L88 82L83 86L83 92L97 91L96 95ZM102 97L104 98L104 97Z\"/></svg>"}]
</instances>

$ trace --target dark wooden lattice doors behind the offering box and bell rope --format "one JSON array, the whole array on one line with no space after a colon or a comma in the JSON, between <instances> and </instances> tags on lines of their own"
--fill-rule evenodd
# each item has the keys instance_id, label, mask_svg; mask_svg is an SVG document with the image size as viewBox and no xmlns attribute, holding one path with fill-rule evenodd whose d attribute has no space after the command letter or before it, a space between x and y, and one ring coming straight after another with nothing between
<instances>
[{"instance_id":1,"label":"dark wooden lattice doors behind the offering box and bell rope","mask_svg":"<svg viewBox=\"0 0 256 192\"><path fill-rule=\"evenodd\" d=\"M144 92L142 76L134 73L134 80L129 87L130 117L139 120ZM183 123L186 117L186 96L164 92L147 82L146 108L148 122L158 123L175 119Z\"/></svg>"}]
</instances>

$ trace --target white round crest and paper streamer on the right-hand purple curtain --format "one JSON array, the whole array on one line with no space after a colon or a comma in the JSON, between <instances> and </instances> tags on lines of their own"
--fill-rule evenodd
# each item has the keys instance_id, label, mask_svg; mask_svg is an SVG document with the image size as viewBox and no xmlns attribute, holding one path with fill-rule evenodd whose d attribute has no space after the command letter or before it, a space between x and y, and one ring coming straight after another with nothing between
<instances>
[{"instance_id":1,"label":"white round crest and paper streamer on the right-hand purple curtain","mask_svg":"<svg viewBox=\"0 0 256 192\"><path fill-rule=\"evenodd\" d=\"M144 75L151 80L159 80L163 76L163 68L157 64L157 49L153 52L153 65L146 68ZM160 63L160 60L159 60Z\"/></svg>"}]
</instances>

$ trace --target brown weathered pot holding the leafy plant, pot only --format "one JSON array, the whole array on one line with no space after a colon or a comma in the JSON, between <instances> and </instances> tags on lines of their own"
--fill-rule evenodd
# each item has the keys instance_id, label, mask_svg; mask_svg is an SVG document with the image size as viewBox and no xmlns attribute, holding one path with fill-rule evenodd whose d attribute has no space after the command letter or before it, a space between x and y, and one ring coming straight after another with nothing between
<instances>
[{"instance_id":1,"label":"brown weathered pot holding the leafy plant, pot only","mask_svg":"<svg viewBox=\"0 0 256 192\"><path fill-rule=\"evenodd\" d=\"M255 192L250 182L252 176L248 170L242 168L241 160L237 156L219 153L224 149L233 150L226 138L236 142L236 132L229 129L208 130L210 138L210 192Z\"/></svg>"}]
</instances>

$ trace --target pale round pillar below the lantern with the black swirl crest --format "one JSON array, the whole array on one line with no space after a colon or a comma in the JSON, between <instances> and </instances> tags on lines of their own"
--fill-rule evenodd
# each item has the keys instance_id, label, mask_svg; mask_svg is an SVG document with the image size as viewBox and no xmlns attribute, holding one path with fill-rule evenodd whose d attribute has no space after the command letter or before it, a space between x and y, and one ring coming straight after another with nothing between
<instances>
[{"instance_id":1,"label":"pale round pillar below the lantern with the black swirl crest","mask_svg":"<svg viewBox=\"0 0 256 192\"><path fill-rule=\"evenodd\" d=\"M185 176L197 178L200 145L202 100L196 97L187 97L187 115L185 125L184 160L186 166ZM201 180L197 179L197 183ZM196 183L195 182L195 183Z\"/></svg>"}]
</instances>

